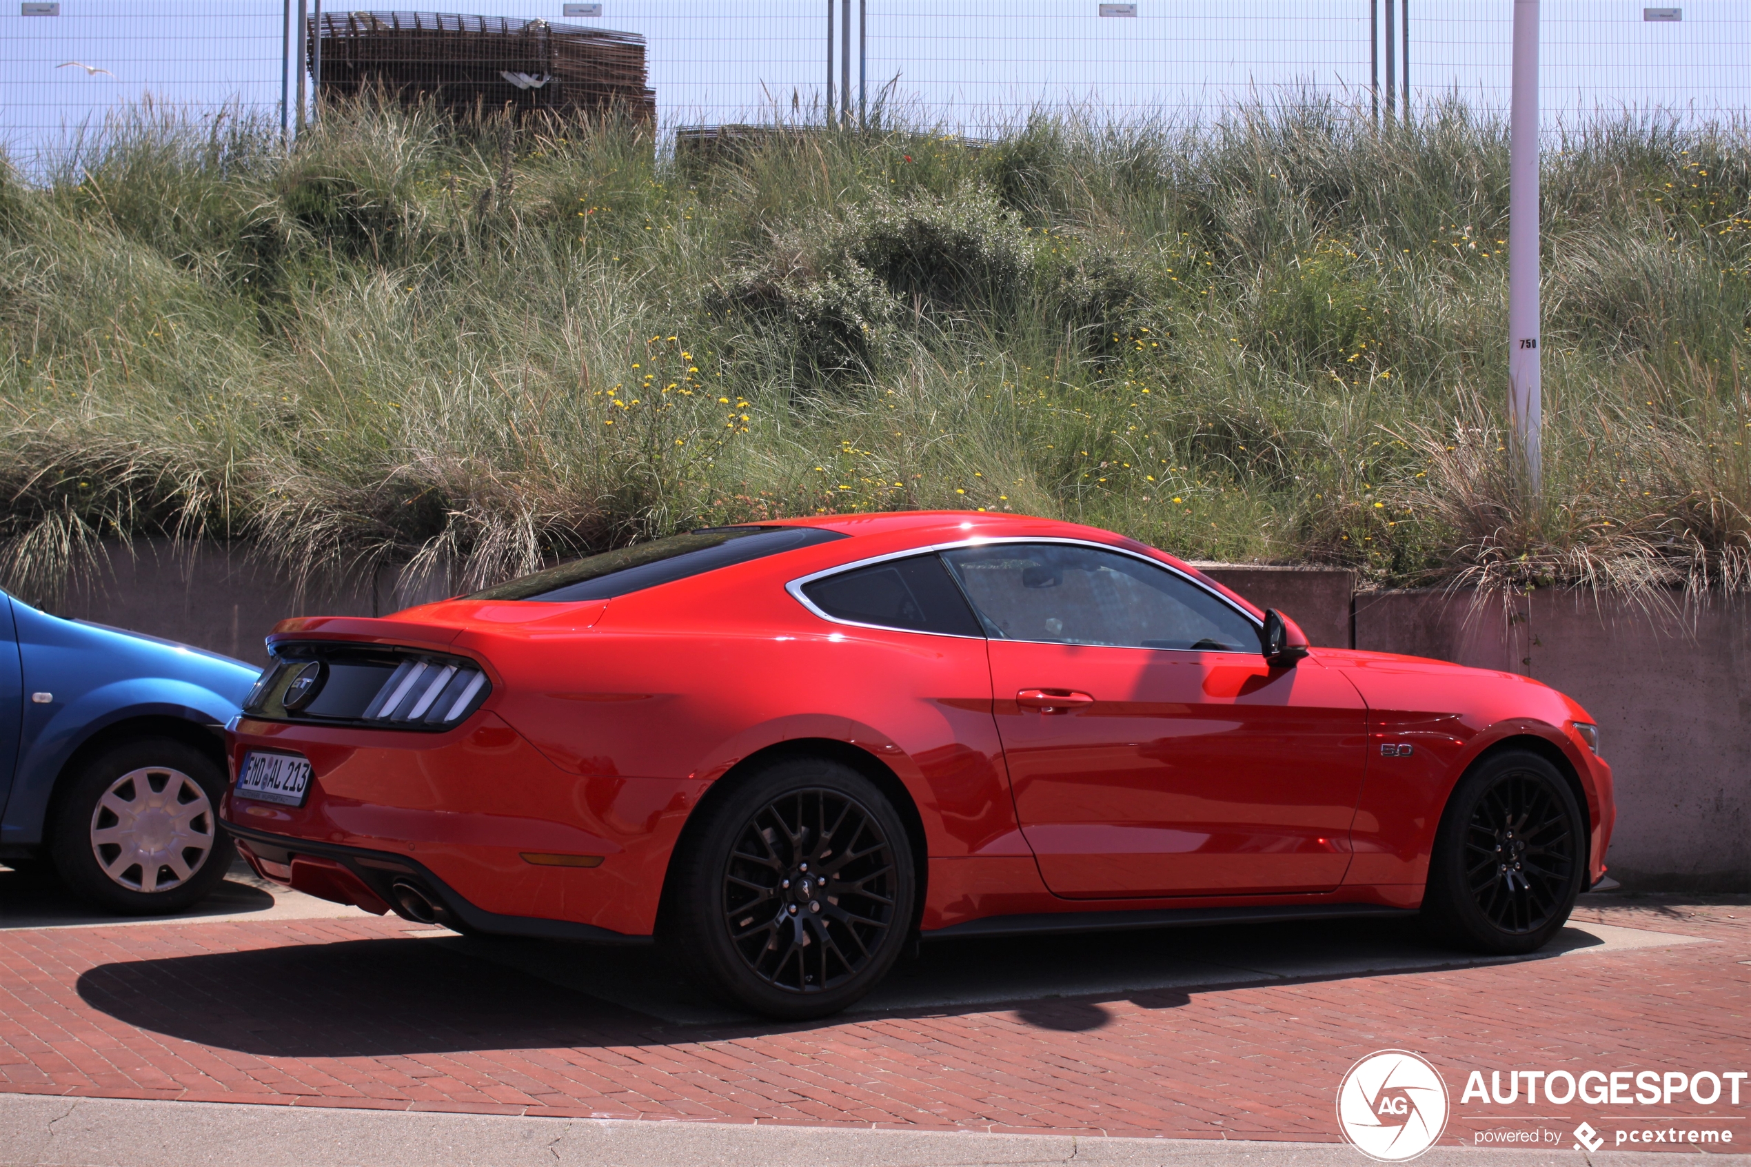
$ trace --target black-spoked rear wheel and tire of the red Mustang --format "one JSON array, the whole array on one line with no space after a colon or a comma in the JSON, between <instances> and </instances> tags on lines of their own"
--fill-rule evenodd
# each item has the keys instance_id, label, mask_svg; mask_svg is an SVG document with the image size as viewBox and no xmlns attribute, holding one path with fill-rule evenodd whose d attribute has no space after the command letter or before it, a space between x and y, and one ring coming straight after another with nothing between
<instances>
[{"instance_id":1,"label":"black-spoked rear wheel and tire of the red Mustang","mask_svg":"<svg viewBox=\"0 0 1751 1167\"><path fill-rule=\"evenodd\" d=\"M704 807L662 940L704 992L777 1020L837 1013L905 948L918 875L898 812L837 761L769 765Z\"/></svg>"}]
</instances>

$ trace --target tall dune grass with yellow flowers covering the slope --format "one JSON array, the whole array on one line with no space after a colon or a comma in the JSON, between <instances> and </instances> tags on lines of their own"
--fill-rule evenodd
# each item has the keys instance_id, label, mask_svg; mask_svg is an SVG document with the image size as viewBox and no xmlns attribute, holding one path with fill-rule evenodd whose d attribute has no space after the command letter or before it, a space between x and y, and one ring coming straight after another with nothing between
<instances>
[{"instance_id":1,"label":"tall dune grass with yellow flowers covering the slope","mask_svg":"<svg viewBox=\"0 0 1751 1167\"><path fill-rule=\"evenodd\" d=\"M1292 100L1208 126L776 135L151 108L0 182L0 577L107 537L476 586L706 523L986 507L1375 586L1751 588L1751 140L1544 171L1546 467L1502 437L1508 140Z\"/></svg>"}]
</instances>

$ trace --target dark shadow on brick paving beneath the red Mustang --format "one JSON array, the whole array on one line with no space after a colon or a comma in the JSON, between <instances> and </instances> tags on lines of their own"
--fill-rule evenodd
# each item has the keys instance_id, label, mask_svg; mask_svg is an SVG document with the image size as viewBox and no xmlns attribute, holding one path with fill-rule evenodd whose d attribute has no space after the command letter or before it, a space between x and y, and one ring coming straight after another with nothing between
<instances>
[{"instance_id":1,"label":"dark shadow on brick paving beneath the red Mustang","mask_svg":"<svg viewBox=\"0 0 1751 1167\"><path fill-rule=\"evenodd\" d=\"M1541 954L1509 959L1606 943L1571 927ZM1481 962L1494 961L1434 947L1396 920L939 941L853 1010L812 1025L1009 1010L1040 1029L1093 1031L1115 1001L1177 1008L1199 990ZM266 1057L686 1043L812 1027L700 997L657 948L431 931L103 964L77 990L128 1025Z\"/></svg>"}]
</instances>

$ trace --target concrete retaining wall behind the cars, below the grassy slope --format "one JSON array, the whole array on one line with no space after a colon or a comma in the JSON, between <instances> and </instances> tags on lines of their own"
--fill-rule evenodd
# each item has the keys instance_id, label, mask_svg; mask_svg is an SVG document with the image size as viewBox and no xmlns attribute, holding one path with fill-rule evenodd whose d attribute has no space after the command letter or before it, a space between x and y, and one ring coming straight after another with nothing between
<instances>
[{"instance_id":1,"label":"concrete retaining wall behind the cars, below the grassy slope","mask_svg":"<svg viewBox=\"0 0 1751 1167\"><path fill-rule=\"evenodd\" d=\"M1651 618L1621 600L1536 593L1504 605L1439 591L1354 593L1331 569L1201 565L1315 644L1432 656L1537 677L1600 724L1618 780L1611 875L1639 891L1751 891L1751 600ZM261 663L284 616L380 616L438 598L443 581L382 570L296 602L242 551L117 548L60 612Z\"/></svg>"}]
</instances>

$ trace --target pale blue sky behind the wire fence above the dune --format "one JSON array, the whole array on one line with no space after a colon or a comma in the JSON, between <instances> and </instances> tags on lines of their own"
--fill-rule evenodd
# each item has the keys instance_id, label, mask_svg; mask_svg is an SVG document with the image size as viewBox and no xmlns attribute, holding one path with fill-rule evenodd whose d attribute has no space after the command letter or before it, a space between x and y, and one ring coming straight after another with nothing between
<instances>
[{"instance_id":1,"label":"pale blue sky behind the wire fence above the dune","mask_svg":"<svg viewBox=\"0 0 1751 1167\"><path fill-rule=\"evenodd\" d=\"M61 0L53 17L0 3L0 135L16 157L149 94L194 112L235 100L278 115L278 0ZM559 0L461 7L643 33L669 126L755 119L793 96L805 107L825 87L826 0L604 0L599 19L564 17ZM1135 19L1103 19L1084 0L867 7L870 93L893 82L919 112L974 129L1037 101L1198 115L1297 82L1361 93L1369 77L1368 0L1138 0ZM1751 107L1751 3L1681 7L1677 23L1648 23L1642 3L1544 0L1548 121L1621 105ZM1459 89L1506 105L1511 0L1411 0L1410 10L1413 94ZM56 68L63 61L109 73Z\"/></svg>"}]
</instances>

